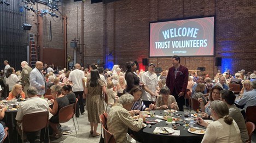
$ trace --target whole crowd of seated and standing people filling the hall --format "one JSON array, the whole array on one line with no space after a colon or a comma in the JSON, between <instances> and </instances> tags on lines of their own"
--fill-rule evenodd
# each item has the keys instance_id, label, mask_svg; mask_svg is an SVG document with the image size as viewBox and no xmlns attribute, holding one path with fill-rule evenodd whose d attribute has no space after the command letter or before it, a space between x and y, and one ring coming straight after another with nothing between
<instances>
[{"instance_id":1,"label":"whole crowd of seated and standing people filling the hall","mask_svg":"<svg viewBox=\"0 0 256 143\"><path fill-rule=\"evenodd\" d=\"M22 122L22 116L38 111L49 111L49 125L54 138L60 138L62 135L58 123L59 110L78 99L75 115L79 117L80 114L84 114L86 105L92 136L100 135L97 132L99 116L106 112L109 132L113 133L117 142L126 142L128 128L134 131L142 128L141 111L184 111L184 96L191 91L192 97L200 102L202 116L216 121L208 125L199 118L200 125L207 127L202 142L221 141L219 139L248 141L245 120L235 104L245 105L245 108L256 105L256 71L246 73L245 70L241 70L234 76L229 70L224 73L218 71L216 77L210 78L208 74L197 76L196 72L189 73L187 67L180 64L181 59L176 55L171 61L173 66L157 75L153 63L150 63L147 66L148 70L144 72L139 71L133 61L126 63L125 70L119 65L114 65L110 70L103 69L97 64L91 64L88 69L75 64L71 71L57 70L54 64L48 66L42 61L37 61L36 67L31 69L26 61L22 61L22 71L15 72L5 60L3 76L5 84L8 85L9 95L2 97L7 97L7 100L29 99L20 104L16 116L18 127ZM236 96L229 91L229 83L240 85L240 94L243 95L240 100L235 101ZM45 95L48 90L51 91L50 95ZM45 100L40 99L49 96L52 103L50 107ZM35 108L28 108L28 105ZM5 110L2 109L0 119L3 118ZM138 120L133 120L134 115L138 115ZM2 125L5 127L4 123ZM219 130L223 126L230 127L230 134L212 135L214 130ZM38 141L38 134L39 132L33 138L30 138L31 134L27 134L28 137L25 136L23 140Z\"/></svg>"}]
</instances>

